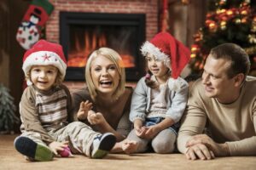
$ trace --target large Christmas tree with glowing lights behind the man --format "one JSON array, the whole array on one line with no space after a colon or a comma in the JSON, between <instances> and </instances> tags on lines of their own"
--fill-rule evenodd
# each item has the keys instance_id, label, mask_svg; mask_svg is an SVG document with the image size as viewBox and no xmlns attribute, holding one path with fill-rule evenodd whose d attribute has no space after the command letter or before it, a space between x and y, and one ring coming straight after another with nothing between
<instances>
[{"instance_id":1,"label":"large Christmas tree with glowing lights behind the man","mask_svg":"<svg viewBox=\"0 0 256 170\"><path fill-rule=\"evenodd\" d=\"M209 0L205 26L194 35L191 69L200 74L211 48L233 42L251 60L250 75L256 76L256 13L254 0Z\"/></svg>"}]
</instances>

